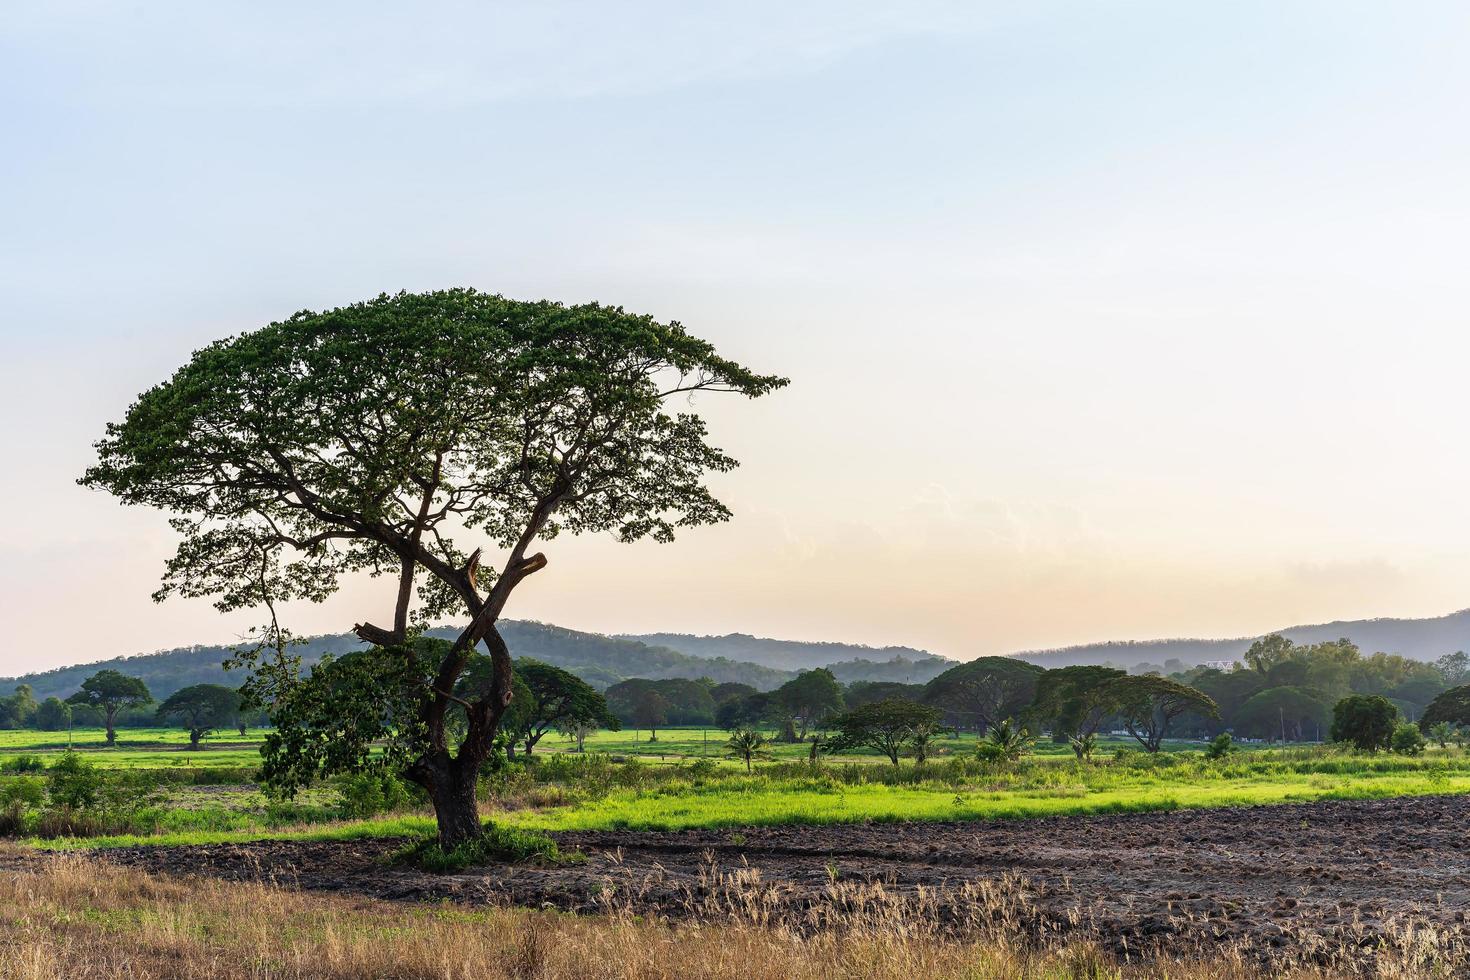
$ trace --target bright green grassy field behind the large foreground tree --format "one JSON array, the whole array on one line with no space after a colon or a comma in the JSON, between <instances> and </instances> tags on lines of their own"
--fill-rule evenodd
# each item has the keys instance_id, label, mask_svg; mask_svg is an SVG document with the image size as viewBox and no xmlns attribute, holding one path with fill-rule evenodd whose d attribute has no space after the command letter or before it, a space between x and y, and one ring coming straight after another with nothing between
<instances>
[{"instance_id":1,"label":"bright green grassy field behind the large foreground tree","mask_svg":"<svg viewBox=\"0 0 1470 980\"><path fill-rule=\"evenodd\" d=\"M65 733L62 733L65 735ZM294 799L254 785L259 732L231 732L188 751L182 732L122 730L107 748L101 732L72 733L76 757L113 802L93 820L50 818L49 767L65 758L56 733L0 733L0 805L15 814L10 836L46 848L201 843L269 836L348 837L426 833L434 821L412 788L343 779ZM678 830L761 824L1025 818L1314 799L1366 799L1470 792L1470 754L1361 755L1335 746L1251 746L1219 761L1198 743L1175 742L1150 757L1108 739L1092 761L1060 745L1010 765L982 763L975 739L956 738L929 763L894 767L876 755L807 761L807 746L776 745L747 773L725 758L723 733L670 729L603 732L587 752L550 736L532 761L488 774L488 818L532 830ZM29 770L29 771L24 771ZM106 793L104 793L106 796ZM19 804L16 801L21 801ZM110 808L109 808L110 807ZM51 814L54 817L54 814Z\"/></svg>"}]
</instances>

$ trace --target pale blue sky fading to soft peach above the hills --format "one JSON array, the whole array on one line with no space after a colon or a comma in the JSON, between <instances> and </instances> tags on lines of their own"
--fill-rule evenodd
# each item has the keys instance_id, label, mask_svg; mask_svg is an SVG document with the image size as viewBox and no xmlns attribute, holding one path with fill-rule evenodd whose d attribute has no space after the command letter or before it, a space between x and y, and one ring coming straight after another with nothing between
<instances>
[{"instance_id":1,"label":"pale blue sky fading to soft peach above the hills","mask_svg":"<svg viewBox=\"0 0 1470 980\"><path fill-rule=\"evenodd\" d=\"M0 673L150 601L75 485L190 353L466 285L681 320L734 522L559 539L507 616L950 657L1470 605L1470 7L0 10ZM382 619L391 583L290 610Z\"/></svg>"}]
</instances>

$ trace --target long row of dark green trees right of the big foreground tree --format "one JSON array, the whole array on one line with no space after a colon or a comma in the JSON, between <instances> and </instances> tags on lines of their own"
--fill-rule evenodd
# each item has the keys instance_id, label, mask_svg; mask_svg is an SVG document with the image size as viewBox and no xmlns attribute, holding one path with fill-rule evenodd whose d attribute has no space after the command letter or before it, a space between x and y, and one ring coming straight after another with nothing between
<instances>
[{"instance_id":1,"label":"long row of dark green trees right of the big foreground tree","mask_svg":"<svg viewBox=\"0 0 1470 980\"><path fill-rule=\"evenodd\" d=\"M835 733L817 736L826 738L831 751L861 745L897 763L900 748L922 758L942 730L1050 732L1079 757L1092 752L1100 733L1114 730L1130 735L1147 752L1160 751L1166 738L1222 733L1389 748L1405 720L1423 720L1424 730L1446 720L1470 724L1470 686L1454 704L1444 701L1466 680L1470 658L1463 652L1429 664L1395 654L1363 655L1347 639L1297 645L1272 635L1252 644L1244 663L1227 671L1047 670L1010 657L982 657L922 685L844 686L832 671L816 669L772 692L635 679L609 688L607 698L623 724L647 729L651 738L662 726L679 724L716 724L732 732L775 727L775 738L784 742L808 741L811 732L822 732ZM1364 713L1377 718L1366 741L1357 735ZM1401 736L1405 745L1413 738ZM750 739L745 742L748 748Z\"/></svg>"}]
</instances>

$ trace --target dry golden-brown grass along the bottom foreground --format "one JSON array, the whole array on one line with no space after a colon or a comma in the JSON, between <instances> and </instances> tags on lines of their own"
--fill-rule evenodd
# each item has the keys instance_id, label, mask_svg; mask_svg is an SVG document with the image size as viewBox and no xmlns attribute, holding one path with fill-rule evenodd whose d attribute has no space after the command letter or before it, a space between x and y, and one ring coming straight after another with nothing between
<instances>
[{"instance_id":1,"label":"dry golden-brown grass along the bottom foreground","mask_svg":"<svg viewBox=\"0 0 1470 980\"><path fill-rule=\"evenodd\" d=\"M631 907L576 917L529 909L407 905L273 884L176 880L85 855L18 860L0 877L0 977L637 977L751 980L875 977L1298 980L1338 970L1260 970L1239 951L1207 962L1119 964L1086 942L1011 937L1005 896L975 896L992 929L936 929L911 905L833 883L820 929L769 921L759 882L722 876L710 918L656 921ZM711 871L714 874L714 871ZM873 886L864 886L872 889ZM742 898L731 898L741 895ZM997 915L997 909L1001 909ZM695 911L695 909L691 909ZM816 920L808 920L814 924ZM953 926L953 923L951 923ZM1423 951L1421 951L1423 952ZM1435 956L1374 961L1392 977L1452 976Z\"/></svg>"}]
</instances>

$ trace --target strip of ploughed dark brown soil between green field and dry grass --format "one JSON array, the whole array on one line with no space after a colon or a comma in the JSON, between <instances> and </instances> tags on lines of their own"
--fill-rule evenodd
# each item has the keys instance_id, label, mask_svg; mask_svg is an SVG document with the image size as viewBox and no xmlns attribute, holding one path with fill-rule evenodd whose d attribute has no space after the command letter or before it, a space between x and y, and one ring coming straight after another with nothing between
<instances>
[{"instance_id":1,"label":"strip of ploughed dark brown soil between green field and dry grass","mask_svg":"<svg viewBox=\"0 0 1470 980\"><path fill-rule=\"evenodd\" d=\"M428 874L400 842L138 846L106 860L401 901L722 917L797 930L914 921L1114 952L1341 961L1470 946L1470 798L1025 821L554 835L576 865ZM1417 937L1417 939L1416 939Z\"/></svg>"}]
</instances>

